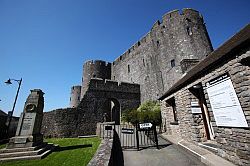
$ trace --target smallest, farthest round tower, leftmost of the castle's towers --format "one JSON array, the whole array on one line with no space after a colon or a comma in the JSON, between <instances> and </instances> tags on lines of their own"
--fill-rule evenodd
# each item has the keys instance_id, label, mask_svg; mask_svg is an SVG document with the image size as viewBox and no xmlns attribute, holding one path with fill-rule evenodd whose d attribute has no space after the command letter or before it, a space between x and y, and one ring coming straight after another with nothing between
<instances>
[{"instance_id":1,"label":"smallest, farthest round tower, leftmost of the castle's towers","mask_svg":"<svg viewBox=\"0 0 250 166\"><path fill-rule=\"evenodd\" d=\"M72 86L70 93L70 107L75 108L81 102L81 86Z\"/></svg>"}]
</instances>

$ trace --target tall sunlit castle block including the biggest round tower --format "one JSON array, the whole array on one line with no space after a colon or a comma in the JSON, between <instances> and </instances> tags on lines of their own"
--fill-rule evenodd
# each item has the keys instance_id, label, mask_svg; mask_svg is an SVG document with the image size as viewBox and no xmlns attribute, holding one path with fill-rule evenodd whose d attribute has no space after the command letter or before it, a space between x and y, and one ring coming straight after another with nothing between
<instances>
[{"instance_id":1,"label":"tall sunlit castle block including the biggest round tower","mask_svg":"<svg viewBox=\"0 0 250 166\"><path fill-rule=\"evenodd\" d=\"M113 62L111 79L140 84L141 101L157 99L182 76L183 59L200 60L211 51L199 12L175 10Z\"/></svg>"}]
</instances>

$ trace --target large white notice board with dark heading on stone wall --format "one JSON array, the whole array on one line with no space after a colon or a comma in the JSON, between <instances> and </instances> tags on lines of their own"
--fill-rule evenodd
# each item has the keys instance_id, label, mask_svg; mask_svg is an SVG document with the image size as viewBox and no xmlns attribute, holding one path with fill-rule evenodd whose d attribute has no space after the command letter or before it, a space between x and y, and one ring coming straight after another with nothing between
<instances>
[{"instance_id":1,"label":"large white notice board with dark heading on stone wall","mask_svg":"<svg viewBox=\"0 0 250 166\"><path fill-rule=\"evenodd\" d=\"M207 82L206 88L217 126L248 127L228 74Z\"/></svg>"}]
</instances>

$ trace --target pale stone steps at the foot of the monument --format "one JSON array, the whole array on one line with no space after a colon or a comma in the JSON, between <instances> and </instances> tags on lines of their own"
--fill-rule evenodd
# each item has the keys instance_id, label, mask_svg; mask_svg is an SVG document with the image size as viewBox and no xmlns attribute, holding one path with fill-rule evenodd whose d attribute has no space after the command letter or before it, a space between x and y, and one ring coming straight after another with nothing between
<instances>
[{"instance_id":1,"label":"pale stone steps at the foot of the monument","mask_svg":"<svg viewBox=\"0 0 250 166\"><path fill-rule=\"evenodd\" d=\"M16 160L34 160L42 159L50 154L56 146L53 144L43 144L38 147L31 148L15 148L15 149L4 149L0 154L0 163L7 161L16 161ZM33 149L33 150L31 150Z\"/></svg>"}]
</instances>

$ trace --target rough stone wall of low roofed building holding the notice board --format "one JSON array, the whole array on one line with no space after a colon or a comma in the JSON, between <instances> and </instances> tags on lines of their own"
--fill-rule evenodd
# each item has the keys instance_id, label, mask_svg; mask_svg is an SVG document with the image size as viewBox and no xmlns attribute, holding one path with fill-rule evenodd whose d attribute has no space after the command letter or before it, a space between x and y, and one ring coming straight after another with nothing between
<instances>
[{"instance_id":1,"label":"rough stone wall of low roofed building holding the notice board","mask_svg":"<svg viewBox=\"0 0 250 166\"><path fill-rule=\"evenodd\" d=\"M239 52L239 51L238 51ZM213 69L203 73L196 81L189 83L184 88L173 93L162 101L162 115L167 119L166 131L168 134L177 134L183 139L193 141L194 143L206 140L203 119L201 114L192 114L190 102L195 99L189 88L198 83L205 83L222 74L229 73L235 92L240 101L248 126L250 126L250 67L249 47L241 50L240 53L233 53L230 59L217 61ZM203 88L204 89L204 88ZM250 129L235 127L216 126L210 101L206 90L204 90L209 117L213 126L215 140L218 146L218 155L228 159L237 165L250 165ZM178 124L171 125L173 111L167 107L165 102L175 97Z\"/></svg>"}]
</instances>

